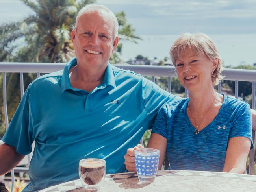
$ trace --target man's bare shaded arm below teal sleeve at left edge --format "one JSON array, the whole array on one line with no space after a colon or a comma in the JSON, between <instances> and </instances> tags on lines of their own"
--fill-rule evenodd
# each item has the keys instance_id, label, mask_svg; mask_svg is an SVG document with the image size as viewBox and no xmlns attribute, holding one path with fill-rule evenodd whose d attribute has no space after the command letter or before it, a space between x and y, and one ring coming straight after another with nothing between
<instances>
[{"instance_id":1,"label":"man's bare shaded arm below teal sleeve at left edge","mask_svg":"<svg viewBox=\"0 0 256 192\"><path fill-rule=\"evenodd\" d=\"M24 157L24 155L17 153L15 147L6 143L0 145L0 175L11 171Z\"/></svg>"}]
</instances>

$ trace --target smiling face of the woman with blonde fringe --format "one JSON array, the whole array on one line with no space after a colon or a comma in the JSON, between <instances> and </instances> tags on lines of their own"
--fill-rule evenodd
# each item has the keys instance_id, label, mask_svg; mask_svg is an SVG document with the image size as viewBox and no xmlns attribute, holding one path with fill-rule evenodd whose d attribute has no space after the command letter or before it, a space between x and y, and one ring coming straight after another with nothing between
<instances>
[{"instance_id":1,"label":"smiling face of the woman with blonde fringe","mask_svg":"<svg viewBox=\"0 0 256 192\"><path fill-rule=\"evenodd\" d=\"M195 54L186 48L176 59L176 71L184 88L192 91L211 89L213 87L211 74L217 67L217 60L208 59L205 54Z\"/></svg>"}]
</instances>

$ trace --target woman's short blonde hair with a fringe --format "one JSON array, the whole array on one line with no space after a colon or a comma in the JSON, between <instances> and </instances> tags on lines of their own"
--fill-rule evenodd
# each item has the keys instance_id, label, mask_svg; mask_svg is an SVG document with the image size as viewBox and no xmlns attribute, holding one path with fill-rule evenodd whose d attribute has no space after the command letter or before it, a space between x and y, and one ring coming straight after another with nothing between
<instances>
[{"instance_id":1,"label":"woman's short blonde hair with a fringe","mask_svg":"<svg viewBox=\"0 0 256 192\"><path fill-rule=\"evenodd\" d=\"M185 49L191 49L195 54L205 54L208 59L217 61L217 67L211 75L213 85L218 85L224 78L221 75L223 70L221 57L215 43L204 33L184 33L171 46L170 57L176 67L176 59L184 53Z\"/></svg>"}]
</instances>

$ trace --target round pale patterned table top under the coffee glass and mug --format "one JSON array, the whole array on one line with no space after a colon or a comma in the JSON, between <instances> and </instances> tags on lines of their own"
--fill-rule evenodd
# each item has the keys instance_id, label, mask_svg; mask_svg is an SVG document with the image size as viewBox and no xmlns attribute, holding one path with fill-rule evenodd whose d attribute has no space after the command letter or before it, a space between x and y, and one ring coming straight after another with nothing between
<instances>
[{"instance_id":1,"label":"round pale patterned table top under the coffee glass and mug","mask_svg":"<svg viewBox=\"0 0 256 192\"><path fill-rule=\"evenodd\" d=\"M135 173L106 175L100 192L256 192L256 176L203 171L158 171L152 183L140 183ZM80 180L40 192L89 192Z\"/></svg>"}]
</instances>

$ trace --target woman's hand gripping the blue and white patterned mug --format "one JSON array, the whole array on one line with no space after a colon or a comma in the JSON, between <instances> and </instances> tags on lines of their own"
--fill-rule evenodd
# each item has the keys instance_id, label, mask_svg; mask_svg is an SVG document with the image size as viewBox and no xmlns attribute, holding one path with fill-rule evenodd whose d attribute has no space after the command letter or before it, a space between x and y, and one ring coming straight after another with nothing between
<instances>
[{"instance_id":1,"label":"woman's hand gripping the blue and white patterned mug","mask_svg":"<svg viewBox=\"0 0 256 192\"><path fill-rule=\"evenodd\" d=\"M134 148L129 148L127 150L127 153L126 155L124 155L124 164L125 164L125 167L126 169L129 171L129 172L136 172L136 166L135 166L135 150L136 149L142 149L144 148L141 144L138 144L137 146L135 146Z\"/></svg>"}]
</instances>

